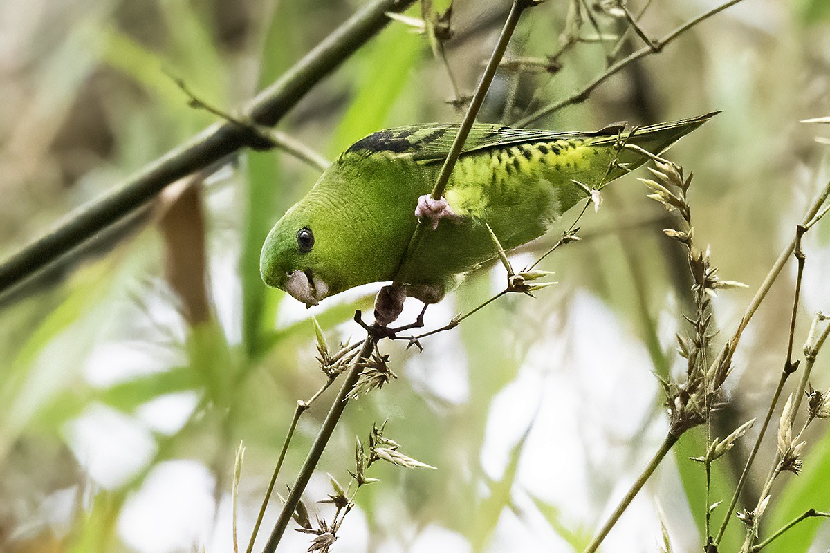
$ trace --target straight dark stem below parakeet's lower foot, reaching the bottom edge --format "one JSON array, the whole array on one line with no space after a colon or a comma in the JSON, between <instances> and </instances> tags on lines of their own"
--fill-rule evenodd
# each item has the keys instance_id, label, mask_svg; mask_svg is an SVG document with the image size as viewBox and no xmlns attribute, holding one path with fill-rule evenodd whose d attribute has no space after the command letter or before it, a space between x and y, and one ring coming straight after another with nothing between
<instances>
[{"instance_id":1,"label":"straight dark stem below parakeet's lower foot, reaching the bottom edge","mask_svg":"<svg viewBox=\"0 0 830 553\"><path fill-rule=\"evenodd\" d=\"M291 516L294 514L297 504L300 502L300 497L302 497L305 487L309 483L311 474L314 473L317 463L320 461L320 456L322 456L325 446L329 443L331 434L334 432L334 427L337 426L340 416L343 415L346 404L349 402L349 393L358 381L361 371L363 371L362 361L368 359L372 354L376 342L375 337L371 335L367 336L357 359L349 367L349 371L345 373L343 386L340 386L337 397L334 398L334 403L331 404L329 414L325 416L325 420L322 426L320 426L320 431L317 433L314 444L311 444L311 449L305 457L305 462L302 468L300 468L300 473L297 474L294 485L291 486L291 492L286 497L286 504L282 506L282 511L276 519L271 536L268 538L268 542L262 550L263 553L274 553L276 546L280 543L282 535L285 533L288 523L291 521Z\"/></svg>"}]
</instances>

